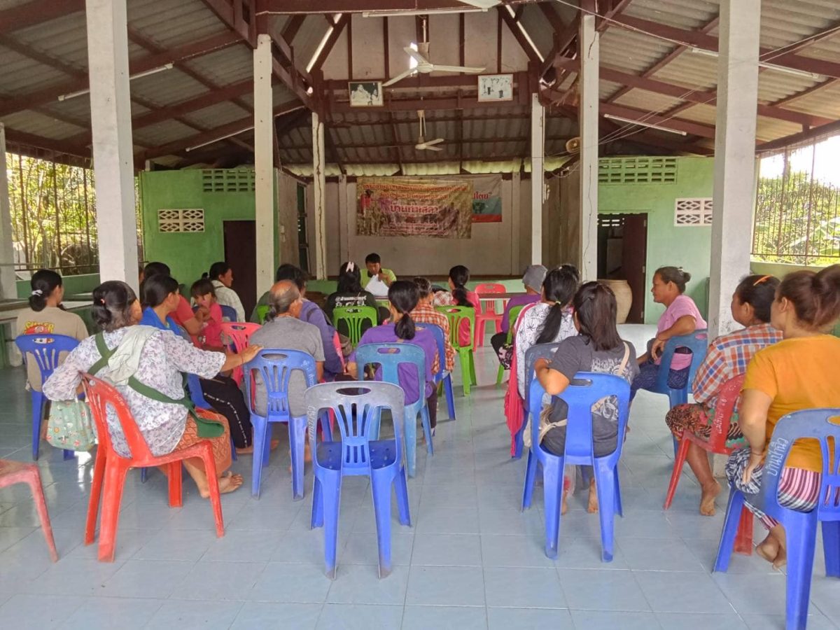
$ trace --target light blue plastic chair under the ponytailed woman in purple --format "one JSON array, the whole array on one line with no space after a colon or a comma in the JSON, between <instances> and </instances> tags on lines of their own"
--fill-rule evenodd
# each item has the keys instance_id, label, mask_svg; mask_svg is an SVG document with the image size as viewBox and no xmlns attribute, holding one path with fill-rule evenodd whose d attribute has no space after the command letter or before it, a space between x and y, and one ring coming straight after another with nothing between
<instances>
[{"instance_id":1,"label":"light blue plastic chair under the ponytailed woman in purple","mask_svg":"<svg viewBox=\"0 0 840 630\"><path fill-rule=\"evenodd\" d=\"M381 365L381 380L386 383L399 385L399 374L404 379L412 378L409 366L417 370L419 396L414 402L405 402L405 435L406 459L408 476L417 473L417 413L423 420L423 433L426 435L426 449L428 454L434 454L432 445L432 428L428 417L426 404L426 355L423 349L414 344L365 344L356 349L356 365L362 370L365 365ZM379 378L377 378L379 380ZM378 435L378 433L374 433Z\"/></svg>"}]
</instances>

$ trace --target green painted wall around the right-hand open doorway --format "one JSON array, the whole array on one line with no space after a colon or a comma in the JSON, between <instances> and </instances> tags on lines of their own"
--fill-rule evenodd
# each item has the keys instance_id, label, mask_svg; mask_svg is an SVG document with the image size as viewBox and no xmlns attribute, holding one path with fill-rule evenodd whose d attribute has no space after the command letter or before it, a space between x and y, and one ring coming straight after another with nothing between
<instances>
[{"instance_id":1,"label":"green painted wall around the right-hand open doorway","mask_svg":"<svg viewBox=\"0 0 840 630\"><path fill-rule=\"evenodd\" d=\"M604 184L598 186L599 213L648 213L648 287L654 271L665 265L681 266L692 280L686 293L697 303L704 317L708 305L708 277L711 260L711 227L674 225L674 203L678 197L711 197L714 160L677 158L673 184ZM645 323L656 323L664 308L655 304L647 291Z\"/></svg>"}]
</instances>

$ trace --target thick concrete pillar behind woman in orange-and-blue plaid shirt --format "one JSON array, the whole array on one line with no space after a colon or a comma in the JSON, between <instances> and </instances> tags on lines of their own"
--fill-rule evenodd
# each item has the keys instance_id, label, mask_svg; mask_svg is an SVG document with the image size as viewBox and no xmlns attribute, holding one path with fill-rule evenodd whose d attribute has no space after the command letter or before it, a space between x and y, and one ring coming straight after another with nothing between
<instances>
[{"instance_id":1,"label":"thick concrete pillar behind woman in orange-and-blue plaid shirt","mask_svg":"<svg viewBox=\"0 0 840 630\"><path fill-rule=\"evenodd\" d=\"M722 0L709 283L712 338L738 328L729 303L741 276L749 273L760 18L761 0Z\"/></svg>"}]
</instances>

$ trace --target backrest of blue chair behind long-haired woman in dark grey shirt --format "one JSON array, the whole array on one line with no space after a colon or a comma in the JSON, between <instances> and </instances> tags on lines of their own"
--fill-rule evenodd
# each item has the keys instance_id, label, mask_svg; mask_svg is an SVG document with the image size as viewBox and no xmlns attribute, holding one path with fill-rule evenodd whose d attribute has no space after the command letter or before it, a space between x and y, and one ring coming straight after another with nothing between
<instances>
[{"instance_id":1,"label":"backrest of blue chair behind long-haired woman in dark grey shirt","mask_svg":"<svg viewBox=\"0 0 840 630\"><path fill-rule=\"evenodd\" d=\"M528 393L530 411L533 421L531 431L533 442L539 442L539 422L537 418L542 410L545 390L537 379L531 382ZM563 393L554 398L562 398L569 406L569 423L566 425L566 443L564 457L578 459L573 463L582 463L580 459L593 457L592 445L592 406L601 398L616 396L618 399L618 440L616 450L607 455L617 461L621 456L624 432L627 428L627 417L630 414L630 384L621 376L612 374L598 374L596 372L578 372L572 379L570 386ZM585 418L585 422L582 421Z\"/></svg>"}]
</instances>

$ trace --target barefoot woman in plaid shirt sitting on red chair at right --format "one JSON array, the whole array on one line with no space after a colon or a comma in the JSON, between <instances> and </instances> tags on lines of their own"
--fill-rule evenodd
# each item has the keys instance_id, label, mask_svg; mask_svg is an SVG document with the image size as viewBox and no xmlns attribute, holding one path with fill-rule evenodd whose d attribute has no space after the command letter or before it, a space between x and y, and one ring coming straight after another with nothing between
<instances>
[{"instance_id":1,"label":"barefoot woman in plaid shirt sitting on red chair at right","mask_svg":"<svg viewBox=\"0 0 840 630\"><path fill-rule=\"evenodd\" d=\"M774 276L747 276L732 294L732 318L745 328L718 337L709 346L706 359L697 370L692 386L696 402L677 405L665 416L665 422L675 438L682 439L684 431L708 439L715 417L717 394L730 379L747 371L753 354L775 344L782 334L770 326L770 305L773 303L779 280ZM727 434L728 448L746 445L738 426L738 412L732 412ZM706 451L690 444L687 461L701 486L700 513L715 514L715 497L721 491L711 473Z\"/></svg>"}]
</instances>

